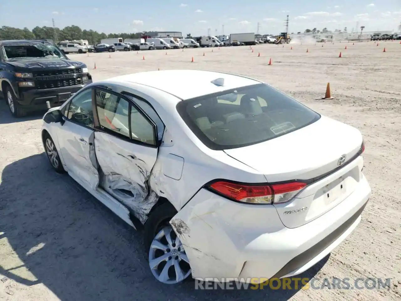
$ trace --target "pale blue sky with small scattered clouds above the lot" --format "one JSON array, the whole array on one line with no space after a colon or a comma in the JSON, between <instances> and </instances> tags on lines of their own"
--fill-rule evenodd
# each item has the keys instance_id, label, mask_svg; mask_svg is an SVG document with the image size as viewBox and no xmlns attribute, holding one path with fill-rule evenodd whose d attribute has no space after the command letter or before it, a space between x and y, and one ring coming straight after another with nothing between
<instances>
[{"instance_id":1,"label":"pale blue sky with small scattered clouds above the lot","mask_svg":"<svg viewBox=\"0 0 401 301\"><path fill-rule=\"evenodd\" d=\"M373 2L372 2L373 1ZM116 4L116 3L119 4ZM181 31L184 35L257 32L280 33L290 15L290 32L306 28L329 30L365 26L365 31L396 30L401 22L400 0L322 1L132 1L132 0L15 0L0 1L0 26L78 25L104 33L142 30Z\"/></svg>"}]
</instances>

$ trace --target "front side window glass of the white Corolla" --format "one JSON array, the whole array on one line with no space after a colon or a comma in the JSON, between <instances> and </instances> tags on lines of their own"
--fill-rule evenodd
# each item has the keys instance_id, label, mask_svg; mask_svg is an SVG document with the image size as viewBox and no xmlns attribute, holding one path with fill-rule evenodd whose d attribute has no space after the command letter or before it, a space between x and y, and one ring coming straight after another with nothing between
<instances>
[{"instance_id":1,"label":"front side window glass of the white Corolla","mask_svg":"<svg viewBox=\"0 0 401 301\"><path fill-rule=\"evenodd\" d=\"M89 126L94 127L93 110L92 110L92 89L86 89L83 92L74 96L68 104L67 119Z\"/></svg>"}]
</instances>

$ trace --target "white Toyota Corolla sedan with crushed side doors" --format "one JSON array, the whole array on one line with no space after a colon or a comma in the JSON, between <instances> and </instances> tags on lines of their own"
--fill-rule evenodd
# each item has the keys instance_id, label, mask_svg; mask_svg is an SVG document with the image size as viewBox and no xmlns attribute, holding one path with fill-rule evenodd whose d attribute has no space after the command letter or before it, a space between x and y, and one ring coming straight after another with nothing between
<instances>
[{"instance_id":1,"label":"white Toyota Corolla sedan with crushed side doors","mask_svg":"<svg viewBox=\"0 0 401 301\"><path fill-rule=\"evenodd\" d=\"M53 168L144 225L163 283L302 273L354 230L371 194L356 128L240 75L114 77L43 120Z\"/></svg>"}]
</instances>

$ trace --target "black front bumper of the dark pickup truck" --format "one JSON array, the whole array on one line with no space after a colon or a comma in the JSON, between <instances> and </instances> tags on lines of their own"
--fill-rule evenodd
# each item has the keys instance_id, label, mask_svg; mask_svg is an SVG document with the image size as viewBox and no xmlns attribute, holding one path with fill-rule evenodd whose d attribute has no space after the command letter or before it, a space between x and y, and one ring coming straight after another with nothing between
<instances>
[{"instance_id":1,"label":"black front bumper of the dark pickup truck","mask_svg":"<svg viewBox=\"0 0 401 301\"><path fill-rule=\"evenodd\" d=\"M77 93L80 89L92 83L89 79L83 85L75 85L69 87L61 87L54 89L19 89L18 103L21 106L30 108L32 110L46 110L46 102L49 101L50 105L61 106L68 98Z\"/></svg>"}]
</instances>

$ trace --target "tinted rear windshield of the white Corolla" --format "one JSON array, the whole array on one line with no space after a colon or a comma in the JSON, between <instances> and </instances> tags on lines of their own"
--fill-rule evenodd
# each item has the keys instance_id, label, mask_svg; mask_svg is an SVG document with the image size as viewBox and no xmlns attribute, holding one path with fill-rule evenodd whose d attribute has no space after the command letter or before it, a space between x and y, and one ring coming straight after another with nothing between
<instances>
[{"instance_id":1,"label":"tinted rear windshield of the white Corolla","mask_svg":"<svg viewBox=\"0 0 401 301\"><path fill-rule=\"evenodd\" d=\"M177 110L192 132L214 150L263 142L320 118L265 83L184 100Z\"/></svg>"}]
</instances>

